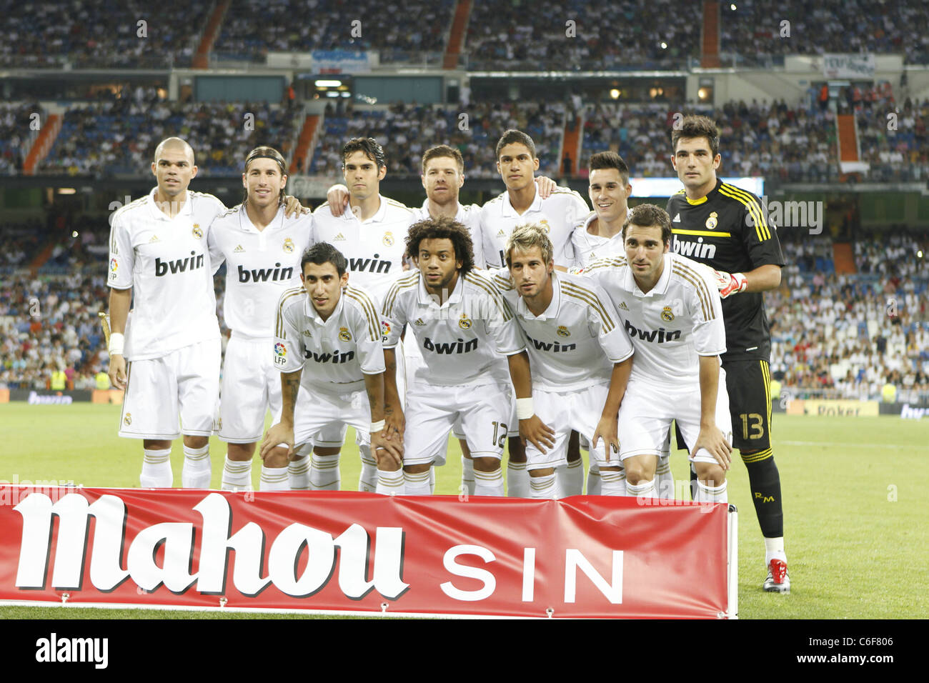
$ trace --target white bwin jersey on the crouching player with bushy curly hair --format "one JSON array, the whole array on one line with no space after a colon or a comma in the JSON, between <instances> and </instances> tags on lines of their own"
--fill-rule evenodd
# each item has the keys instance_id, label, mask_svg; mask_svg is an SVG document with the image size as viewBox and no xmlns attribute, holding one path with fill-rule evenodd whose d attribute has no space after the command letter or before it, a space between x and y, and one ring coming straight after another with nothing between
<instances>
[{"instance_id":1,"label":"white bwin jersey on the crouching player with bushy curly hair","mask_svg":"<svg viewBox=\"0 0 929 683\"><path fill-rule=\"evenodd\" d=\"M451 295L439 306L425 290L419 270L390 287L381 310L384 348L395 348L403 326L423 354L417 382L445 387L500 381L500 354L525 350L522 334L504 297L483 275L458 277Z\"/></svg>"}]
</instances>

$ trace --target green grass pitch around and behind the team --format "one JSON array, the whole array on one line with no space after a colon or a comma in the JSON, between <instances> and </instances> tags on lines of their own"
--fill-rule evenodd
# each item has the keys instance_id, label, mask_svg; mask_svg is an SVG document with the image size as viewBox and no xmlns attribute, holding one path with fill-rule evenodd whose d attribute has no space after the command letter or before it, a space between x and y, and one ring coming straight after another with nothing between
<instances>
[{"instance_id":1,"label":"green grass pitch around and behind the team","mask_svg":"<svg viewBox=\"0 0 929 683\"><path fill-rule=\"evenodd\" d=\"M4 446L0 480L73 481L137 487L141 441L119 439L119 406L0 405ZM774 453L781 476L792 594L761 590L764 545L738 460L729 501L739 507L739 617L742 619L924 618L929 600L927 424L881 417L776 414ZM211 440L214 488L224 444ZM437 470L436 493L458 493L457 442L450 465ZM183 453L172 452L175 483ZM675 479L687 479L683 452L672 456ZM355 490L359 460L351 434L342 457L343 488ZM258 483L255 458L253 481ZM695 582L699 577L694 577ZM261 618L262 615L148 610L0 607L0 618ZM278 617L280 615L265 615ZM291 618L293 615L286 615Z\"/></svg>"}]
</instances>

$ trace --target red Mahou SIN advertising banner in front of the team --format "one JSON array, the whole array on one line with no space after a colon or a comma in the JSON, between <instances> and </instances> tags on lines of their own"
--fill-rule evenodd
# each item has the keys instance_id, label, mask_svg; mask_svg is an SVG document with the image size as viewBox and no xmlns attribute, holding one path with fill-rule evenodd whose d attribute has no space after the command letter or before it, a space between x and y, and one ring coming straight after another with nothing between
<instances>
[{"instance_id":1,"label":"red Mahou SIN advertising banner in front of the team","mask_svg":"<svg viewBox=\"0 0 929 683\"><path fill-rule=\"evenodd\" d=\"M719 618L727 507L0 485L0 601Z\"/></svg>"}]
</instances>

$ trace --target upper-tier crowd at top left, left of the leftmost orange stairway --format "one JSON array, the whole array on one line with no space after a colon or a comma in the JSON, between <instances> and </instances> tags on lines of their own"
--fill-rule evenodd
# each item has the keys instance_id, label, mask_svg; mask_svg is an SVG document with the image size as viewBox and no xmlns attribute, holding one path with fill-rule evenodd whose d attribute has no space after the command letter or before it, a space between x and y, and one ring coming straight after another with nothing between
<instances>
[{"instance_id":1,"label":"upper-tier crowd at top left, left of the leftmost orange stairway","mask_svg":"<svg viewBox=\"0 0 929 683\"><path fill-rule=\"evenodd\" d=\"M138 69L190 66L210 3L0 0L0 66Z\"/></svg>"}]
</instances>

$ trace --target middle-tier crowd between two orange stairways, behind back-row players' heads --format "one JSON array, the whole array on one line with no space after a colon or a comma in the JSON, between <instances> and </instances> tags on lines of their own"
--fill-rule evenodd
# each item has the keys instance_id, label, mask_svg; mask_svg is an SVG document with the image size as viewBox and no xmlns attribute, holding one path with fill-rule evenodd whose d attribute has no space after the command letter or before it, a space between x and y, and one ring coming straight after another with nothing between
<instances>
[{"instance_id":1,"label":"middle-tier crowd between two orange stairways, behind back-row players' heads","mask_svg":"<svg viewBox=\"0 0 929 683\"><path fill-rule=\"evenodd\" d=\"M423 152L448 144L462 152L467 177L498 177L497 140L507 128L517 128L535 142L537 175L557 177L565 117L566 106L560 102L480 103L464 111L397 104L377 111L333 112L325 118L309 172L339 177L343 143L370 136L386 151L388 173L418 176Z\"/></svg>"}]
</instances>

